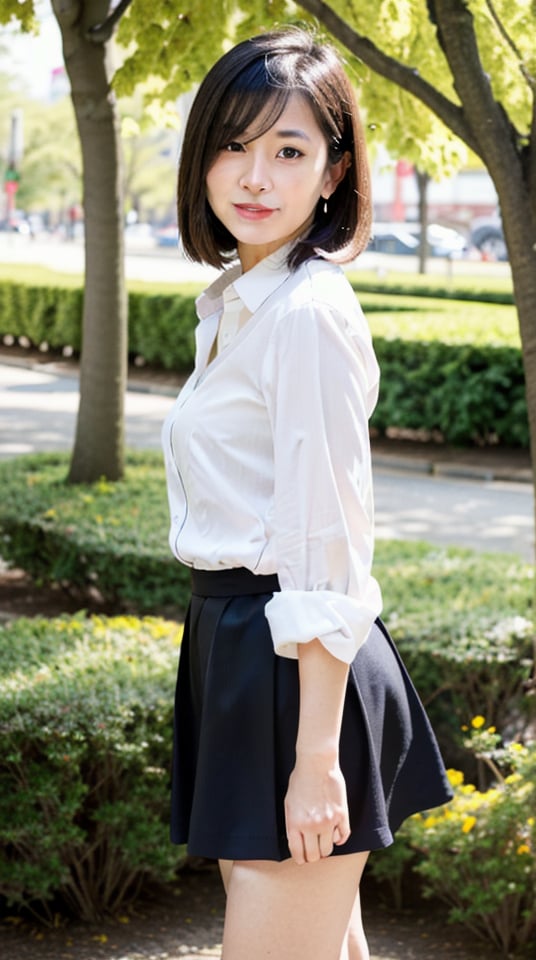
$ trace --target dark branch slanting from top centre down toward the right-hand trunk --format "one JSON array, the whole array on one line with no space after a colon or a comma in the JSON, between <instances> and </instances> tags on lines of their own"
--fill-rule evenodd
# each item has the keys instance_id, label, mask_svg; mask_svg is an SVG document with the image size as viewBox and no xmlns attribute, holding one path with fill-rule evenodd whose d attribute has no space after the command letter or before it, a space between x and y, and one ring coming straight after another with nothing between
<instances>
[{"instance_id":1,"label":"dark branch slanting from top centre down toward the right-hand trunk","mask_svg":"<svg viewBox=\"0 0 536 960\"><path fill-rule=\"evenodd\" d=\"M440 120L463 140L471 150L480 155L480 149L464 111L432 84L420 76L417 67L408 67L394 57L388 56L371 40L364 37L343 20L324 0L299 0L300 6L312 14L359 60L371 70L396 83L424 103Z\"/></svg>"}]
</instances>

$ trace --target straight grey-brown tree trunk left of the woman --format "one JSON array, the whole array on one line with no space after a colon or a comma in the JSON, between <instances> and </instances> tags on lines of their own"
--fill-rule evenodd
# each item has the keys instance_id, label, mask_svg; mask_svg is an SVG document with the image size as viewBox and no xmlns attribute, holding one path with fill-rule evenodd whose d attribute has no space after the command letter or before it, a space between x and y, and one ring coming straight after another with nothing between
<instances>
[{"instance_id":1,"label":"straight grey-brown tree trunk left of the woman","mask_svg":"<svg viewBox=\"0 0 536 960\"><path fill-rule=\"evenodd\" d=\"M86 270L71 483L118 480L124 470L127 300L120 139L110 42L87 38L108 8L108 0L53 0L83 162Z\"/></svg>"}]
</instances>

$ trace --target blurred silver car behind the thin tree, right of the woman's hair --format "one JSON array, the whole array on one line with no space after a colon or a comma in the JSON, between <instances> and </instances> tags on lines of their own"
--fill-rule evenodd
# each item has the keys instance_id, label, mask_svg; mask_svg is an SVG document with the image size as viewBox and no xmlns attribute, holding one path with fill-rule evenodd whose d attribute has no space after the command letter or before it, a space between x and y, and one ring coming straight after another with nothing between
<instances>
[{"instance_id":1,"label":"blurred silver car behind the thin tree, right of the woman's hair","mask_svg":"<svg viewBox=\"0 0 536 960\"><path fill-rule=\"evenodd\" d=\"M412 254L419 252L421 227L418 223L375 223L367 247L376 253ZM463 234L439 223L428 225L428 255L431 257L464 257L469 244Z\"/></svg>"}]
</instances>

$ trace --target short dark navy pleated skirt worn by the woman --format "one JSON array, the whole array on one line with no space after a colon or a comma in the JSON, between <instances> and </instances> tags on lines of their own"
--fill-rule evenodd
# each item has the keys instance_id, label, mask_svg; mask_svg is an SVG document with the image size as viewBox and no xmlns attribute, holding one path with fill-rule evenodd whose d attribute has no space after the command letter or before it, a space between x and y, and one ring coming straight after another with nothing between
<instances>
[{"instance_id":1,"label":"short dark navy pleated skirt worn by the woman","mask_svg":"<svg viewBox=\"0 0 536 960\"><path fill-rule=\"evenodd\" d=\"M171 839L193 856L284 860L298 662L274 653L264 608L277 577L193 571L175 700ZM452 796L435 736L385 626L350 665L340 740L351 835L375 850Z\"/></svg>"}]
</instances>

